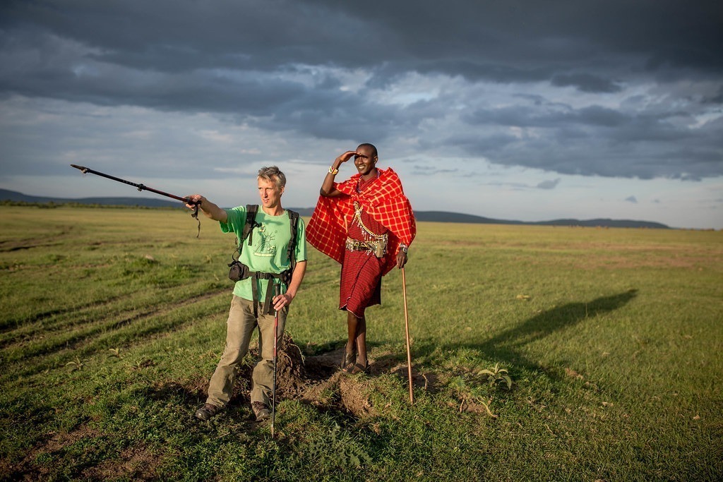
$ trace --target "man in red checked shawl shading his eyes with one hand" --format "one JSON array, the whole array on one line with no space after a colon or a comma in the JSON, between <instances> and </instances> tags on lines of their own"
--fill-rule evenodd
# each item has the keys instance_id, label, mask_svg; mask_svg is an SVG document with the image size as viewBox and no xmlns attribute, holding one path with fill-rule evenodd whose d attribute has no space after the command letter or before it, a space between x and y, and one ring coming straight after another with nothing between
<instances>
[{"instance_id":1,"label":"man in red checked shawl shading his eyes with one hand","mask_svg":"<svg viewBox=\"0 0 723 482\"><path fill-rule=\"evenodd\" d=\"M334 182L341 164L352 157L357 173ZM378 169L377 160L371 144L336 158L307 226L307 241L341 263L339 309L347 311L348 334L341 368L350 373L369 373L364 310L381 303L382 276L394 266L404 267L416 235L399 176L391 168Z\"/></svg>"}]
</instances>

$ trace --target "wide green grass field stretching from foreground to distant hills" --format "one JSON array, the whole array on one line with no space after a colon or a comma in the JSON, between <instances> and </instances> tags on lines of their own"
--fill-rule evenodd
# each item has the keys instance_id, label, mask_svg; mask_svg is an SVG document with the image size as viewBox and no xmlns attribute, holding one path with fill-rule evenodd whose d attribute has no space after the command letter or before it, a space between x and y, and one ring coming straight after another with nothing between
<instances>
[{"instance_id":1,"label":"wide green grass field stretching from foreground to distant hills","mask_svg":"<svg viewBox=\"0 0 723 482\"><path fill-rule=\"evenodd\" d=\"M272 439L242 381L221 416L193 417L231 297L234 239L215 223L196 238L180 210L0 221L3 480L723 478L723 232L420 223L414 405L394 270L367 311L372 375L317 373ZM307 361L346 336L338 264L309 251L287 324Z\"/></svg>"}]
</instances>

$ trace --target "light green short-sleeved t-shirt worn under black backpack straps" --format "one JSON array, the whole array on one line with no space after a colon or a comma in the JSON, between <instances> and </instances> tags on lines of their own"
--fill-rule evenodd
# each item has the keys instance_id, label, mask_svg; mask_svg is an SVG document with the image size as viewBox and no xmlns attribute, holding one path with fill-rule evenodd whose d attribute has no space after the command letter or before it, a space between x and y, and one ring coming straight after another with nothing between
<instances>
[{"instance_id":1,"label":"light green short-sleeved t-shirt worn under black backpack straps","mask_svg":"<svg viewBox=\"0 0 723 482\"><path fill-rule=\"evenodd\" d=\"M224 233L235 233L238 243L244 231L246 223L246 206L234 207L226 210L226 223L219 223ZM252 271L281 273L291 267L291 259L288 259L288 243L291 241L291 219L288 212L284 211L280 216L270 216L261 207L256 212L256 222L260 227L255 227L249 238L252 243L249 246L249 239L244 241L244 249L241 250L239 261L246 264ZM307 241L304 220L299 217L299 225L296 228L296 262L306 261ZM279 280L274 280L278 283ZM236 281L234 295L247 300L253 300L251 283L253 278ZM266 296L268 280L259 280L257 289L260 301ZM282 293L286 286L281 286Z\"/></svg>"}]
</instances>

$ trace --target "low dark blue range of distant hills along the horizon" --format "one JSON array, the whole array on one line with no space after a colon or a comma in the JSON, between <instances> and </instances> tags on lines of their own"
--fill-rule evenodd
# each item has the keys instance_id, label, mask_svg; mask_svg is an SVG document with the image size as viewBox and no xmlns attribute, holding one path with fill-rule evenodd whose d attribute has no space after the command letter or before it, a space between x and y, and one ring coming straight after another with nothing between
<instances>
[{"instance_id":1,"label":"low dark blue range of distant hills along the horizon","mask_svg":"<svg viewBox=\"0 0 723 482\"><path fill-rule=\"evenodd\" d=\"M55 204L75 203L81 205L113 205L113 206L143 206L143 207L183 207L181 202L166 201L165 199L147 198L147 197L82 197L77 199L67 199L60 197L38 197L27 196L17 191L8 191L0 189L0 201L12 202L30 202L46 204L53 202ZM312 207L291 207L298 211L302 216L311 216ZM515 221L504 219L484 218L471 214L462 214L460 212L446 211L414 211L416 220L429 221L432 223L473 223L473 224L512 224L512 225L549 225L549 226L586 226L601 228L655 228L669 229L669 226L662 223L653 223L650 221L638 220L615 220L615 219L556 219L549 221Z\"/></svg>"}]
</instances>

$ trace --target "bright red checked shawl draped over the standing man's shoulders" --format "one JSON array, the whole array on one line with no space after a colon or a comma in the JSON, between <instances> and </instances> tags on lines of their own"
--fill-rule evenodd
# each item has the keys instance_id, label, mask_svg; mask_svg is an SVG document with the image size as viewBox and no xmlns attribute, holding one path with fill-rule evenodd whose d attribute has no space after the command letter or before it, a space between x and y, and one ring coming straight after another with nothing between
<instances>
[{"instance_id":1,"label":"bright red checked shawl draped over the standing man's shoulders","mask_svg":"<svg viewBox=\"0 0 723 482\"><path fill-rule=\"evenodd\" d=\"M392 168L378 169L379 177L361 193L356 185L361 173L334 187L347 194L340 197L319 197L316 209L307 225L307 241L328 257L341 263L344 259L346 231L354 218L354 201L365 212L389 230L389 244L383 274L396 265L399 243L409 246L416 236L416 223L409 199L404 195L399 176Z\"/></svg>"}]
</instances>

